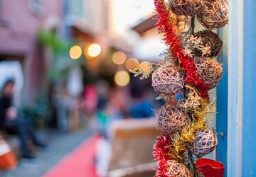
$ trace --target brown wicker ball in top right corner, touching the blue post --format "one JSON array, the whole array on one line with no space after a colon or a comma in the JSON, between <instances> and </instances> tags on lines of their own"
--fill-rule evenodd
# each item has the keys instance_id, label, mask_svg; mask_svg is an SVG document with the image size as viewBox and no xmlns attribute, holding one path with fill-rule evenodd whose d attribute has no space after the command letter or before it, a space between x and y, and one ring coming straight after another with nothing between
<instances>
[{"instance_id":1,"label":"brown wicker ball in top right corner, touching the blue post","mask_svg":"<svg viewBox=\"0 0 256 177\"><path fill-rule=\"evenodd\" d=\"M197 14L198 21L209 30L228 24L228 0L206 0L206 7Z\"/></svg>"}]
</instances>

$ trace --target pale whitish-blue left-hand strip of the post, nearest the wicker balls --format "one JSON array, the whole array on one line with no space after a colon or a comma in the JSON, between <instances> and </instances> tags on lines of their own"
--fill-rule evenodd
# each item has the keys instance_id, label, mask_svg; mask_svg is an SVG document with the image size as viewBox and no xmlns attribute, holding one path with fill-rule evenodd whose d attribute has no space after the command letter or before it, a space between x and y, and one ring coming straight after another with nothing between
<instances>
[{"instance_id":1,"label":"pale whitish-blue left-hand strip of the post, nearest the wicker balls","mask_svg":"<svg viewBox=\"0 0 256 177\"><path fill-rule=\"evenodd\" d=\"M242 1L229 1L228 177L242 176ZM238 102L239 101L239 102Z\"/></svg>"}]
</instances>

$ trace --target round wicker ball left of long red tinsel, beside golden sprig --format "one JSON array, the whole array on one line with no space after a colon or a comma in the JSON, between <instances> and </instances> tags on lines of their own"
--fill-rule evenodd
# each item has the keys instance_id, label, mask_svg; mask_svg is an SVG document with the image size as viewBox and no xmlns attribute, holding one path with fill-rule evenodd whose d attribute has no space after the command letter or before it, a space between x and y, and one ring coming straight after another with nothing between
<instances>
[{"instance_id":1,"label":"round wicker ball left of long red tinsel, beside golden sprig","mask_svg":"<svg viewBox=\"0 0 256 177\"><path fill-rule=\"evenodd\" d=\"M152 74L154 90L163 96L173 96L183 89L184 76L174 64L159 67Z\"/></svg>"}]
</instances>

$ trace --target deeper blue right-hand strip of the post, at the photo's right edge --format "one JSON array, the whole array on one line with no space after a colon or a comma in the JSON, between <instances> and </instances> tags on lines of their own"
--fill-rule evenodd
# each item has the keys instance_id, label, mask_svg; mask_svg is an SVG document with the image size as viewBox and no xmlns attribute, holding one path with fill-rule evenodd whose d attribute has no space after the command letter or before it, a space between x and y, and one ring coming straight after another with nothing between
<instances>
[{"instance_id":1,"label":"deeper blue right-hand strip of the post, at the photo's right edge","mask_svg":"<svg viewBox=\"0 0 256 177\"><path fill-rule=\"evenodd\" d=\"M242 176L256 176L256 1L244 1Z\"/></svg>"}]
</instances>

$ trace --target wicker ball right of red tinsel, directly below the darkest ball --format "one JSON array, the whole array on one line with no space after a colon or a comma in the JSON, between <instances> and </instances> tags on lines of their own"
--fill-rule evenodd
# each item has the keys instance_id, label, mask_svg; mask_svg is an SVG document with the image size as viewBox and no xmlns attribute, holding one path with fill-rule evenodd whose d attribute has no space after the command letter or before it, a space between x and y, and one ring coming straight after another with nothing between
<instances>
[{"instance_id":1,"label":"wicker ball right of red tinsel, directly below the darkest ball","mask_svg":"<svg viewBox=\"0 0 256 177\"><path fill-rule=\"evenodd\" d=\"M198 73L209 89L213 89L219 83L222 76L222 65L214 59L201 57L194 59Z\"/></svg>"}]
</instances>

